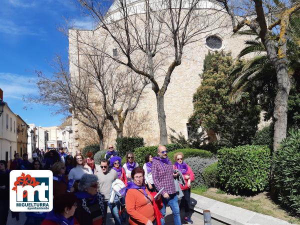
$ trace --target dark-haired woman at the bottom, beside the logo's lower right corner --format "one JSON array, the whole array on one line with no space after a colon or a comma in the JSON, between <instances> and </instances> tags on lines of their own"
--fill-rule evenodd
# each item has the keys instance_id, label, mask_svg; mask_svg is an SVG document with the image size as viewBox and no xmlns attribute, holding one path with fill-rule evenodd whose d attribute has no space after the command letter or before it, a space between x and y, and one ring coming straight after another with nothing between
<instances>
[{"instance_id":1,"label":"dark-haired woman at the bottom, beside the logo's lower right corner","mask_svg":"<svg viewBox=\"0 0 300 225\"><path fill-rule=\"evenodd\" d=\"M76 200L73 193L63 193L55 197L53 199L53 210L47 214L41 225L73 225L73 215L77 207Z\"/></svg>"}]
</instances>

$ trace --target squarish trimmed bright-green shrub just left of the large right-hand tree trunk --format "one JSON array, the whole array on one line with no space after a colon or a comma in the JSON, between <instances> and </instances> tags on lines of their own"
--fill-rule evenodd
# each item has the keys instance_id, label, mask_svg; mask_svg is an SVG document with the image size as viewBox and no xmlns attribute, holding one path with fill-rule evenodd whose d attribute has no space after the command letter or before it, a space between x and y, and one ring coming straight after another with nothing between
<instances>
[{"instance_id":1,"label":"squarish trimmed bright-green shrub just left of the large right-hand tree trunk","mask_svg":"<svg viewBox=\"0 0 300 225\"><path fill-rule=\"evenodd\" d=\"M218 178L227 192L248 194L267 187L270 150L266 145L222 148L217 153Z\"/></svg>"}]
</instances>

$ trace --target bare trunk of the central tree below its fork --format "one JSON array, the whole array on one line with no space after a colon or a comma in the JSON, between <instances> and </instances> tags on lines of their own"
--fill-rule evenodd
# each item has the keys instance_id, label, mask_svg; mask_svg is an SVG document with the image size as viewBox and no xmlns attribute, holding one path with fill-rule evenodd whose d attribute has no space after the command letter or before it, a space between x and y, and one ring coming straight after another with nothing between
<instances>
[{"instance_id":1,"label":"bare trunk of the central tree below its fork","mask_svg":"<svg viewBox=\"0 0 300 225\"><path fill-rule=\"evenodd\" d=\"M160 144L167 144L167 130L165 123L165 112L163 105L163 95L160 95L158 92L156 94L156 104L157 104L157 115L158 115L158 124L159 124L159 140Z\"/></svg>"}]
</instances>

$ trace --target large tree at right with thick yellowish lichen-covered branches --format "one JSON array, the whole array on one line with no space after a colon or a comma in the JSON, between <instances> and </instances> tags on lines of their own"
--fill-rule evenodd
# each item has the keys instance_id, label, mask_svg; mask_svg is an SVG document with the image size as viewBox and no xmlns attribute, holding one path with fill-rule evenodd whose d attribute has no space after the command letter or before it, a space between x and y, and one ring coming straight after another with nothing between
<instances>
[{"instance_id":1,"label":"large tree at right with thick yellowish lichen-covered branches","mask_svg":"<svg viewBox=\"0 0 300 225\"><path fill-rule=\"evenodd\" d=\"M290 15L300 8L300 1L275 0L217 0L224 5L232 21L233 32L247 26L263 43L270 63L276 70L277 93L275 97L274 150L286 137L287 98L290 82L287 73L286 41ZM279 33L279 35L276 35ZM275 38L274 38L275 37Z\"/></svg>"}]
</instances>

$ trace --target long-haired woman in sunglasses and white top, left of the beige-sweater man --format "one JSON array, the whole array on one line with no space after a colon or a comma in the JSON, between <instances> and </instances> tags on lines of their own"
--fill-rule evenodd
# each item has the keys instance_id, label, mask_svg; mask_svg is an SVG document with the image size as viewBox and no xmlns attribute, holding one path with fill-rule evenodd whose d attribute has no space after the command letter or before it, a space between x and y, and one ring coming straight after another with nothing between
<instances>
[{"instance_id":1,"label":"long-haired woman in sunglasses and white top, left of the beige-sweater man","mask_svg":"<svg viewBox=\"0 0 300 225\"><path fill-rule=\"evenodd\" d=\"M85 173L92 174L91 168L85 163L85 159L82 154L76 154L73 157L73 168L68 174L69 179L79 180Z\"/></svg>"}]
</instances>

